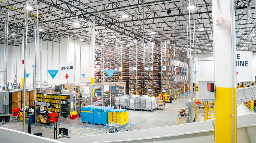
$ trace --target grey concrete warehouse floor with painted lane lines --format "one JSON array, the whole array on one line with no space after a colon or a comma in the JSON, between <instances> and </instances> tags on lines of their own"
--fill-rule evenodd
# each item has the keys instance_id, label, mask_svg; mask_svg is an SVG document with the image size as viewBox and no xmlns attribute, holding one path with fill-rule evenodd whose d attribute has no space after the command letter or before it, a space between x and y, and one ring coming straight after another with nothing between
<instances>
[{"instance_id":1,"label":"grey concrete warehouse floor with painted lane lines","mask_svg":"<svg viewBox=\"0 0 256 143\"><path fill-rule=\"evenodd\" d=\"M172 100L172 103L166 103L164 110L154 110L152 112L129 110L129 123L131 124L131 130L177 125L179 123L178 112L181 108L185 107L185 101L188 100L189 96L190 94L187 94L177 100ZM237 107L237 113L238 115L244 115L255 112L251 111L245 104L240 104ZM204 121L203 114L204 109L199 109L197 122ZM9 115L12 117L12 114ZM181 117L181 124L186 123L184 118L185 117ZM5 124L1 125L1 127L23 131L22 122L10 120L9 123L12 123L12 125ZM59 118L58 128L67 128L69 131L69 137L91 136L106 133L106 127L104 125L82 123L81 118L74 120ZM25 132L27 132L27 130L27 124L25 124ZM32 124L31 131L32 133L43 133L44 137L53 139L53 126L46 126L46 124L41 123L37 123L36 125Z\"/></svg>"}]
</instances>

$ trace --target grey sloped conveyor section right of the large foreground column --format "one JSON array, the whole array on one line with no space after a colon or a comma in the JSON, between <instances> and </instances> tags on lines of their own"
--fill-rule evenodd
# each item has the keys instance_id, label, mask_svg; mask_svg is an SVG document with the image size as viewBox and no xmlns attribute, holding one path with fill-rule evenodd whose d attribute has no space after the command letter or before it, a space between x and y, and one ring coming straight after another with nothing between
<instances>
[{"instance_id":1,"label":"grey sloped conveyor section right of the large foreground column","mask_svg":"<svg viewBox=\"0 0 256 143\"><path fill-rule=\"evenodd\" d=\"M256 100L256 86L238 89L236 96L237 96L237 104L240 102L242 103L242 102Z\"/></svg>"}]
</instances>

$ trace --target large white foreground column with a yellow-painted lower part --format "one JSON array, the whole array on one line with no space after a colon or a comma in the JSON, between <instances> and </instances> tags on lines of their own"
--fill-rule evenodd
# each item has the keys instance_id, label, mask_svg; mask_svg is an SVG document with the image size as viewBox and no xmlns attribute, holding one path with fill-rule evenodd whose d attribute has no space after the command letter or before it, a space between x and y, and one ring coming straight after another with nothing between
<instances>
[{"instance_id":1,"label":"large white foreground column with a yellow-painted lower part","mask_svg":"<svg viewBox=\"0 0 256 143\"><path fill-rule=\"evenodd\" d=\"M215 142L236 143L234 1L213 0L212 7L216 84Z\"/></svg>"}]
</instances>

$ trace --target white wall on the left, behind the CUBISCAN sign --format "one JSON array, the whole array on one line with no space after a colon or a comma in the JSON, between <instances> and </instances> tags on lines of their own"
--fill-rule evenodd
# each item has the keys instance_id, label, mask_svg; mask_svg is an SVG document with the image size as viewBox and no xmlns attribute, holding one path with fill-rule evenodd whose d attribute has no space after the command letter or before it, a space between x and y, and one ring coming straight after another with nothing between
<instances>
[{"instance_id":1,"label":"white wall on the left, behind the CUBISCAN sign","mask_svg":"<svg viewBox=\"0 0 256 143\"><path fill-rule=\"evenodd\" d=\"M53 44L53 46L52 46ZM48 53L47 53L47 47L48 47ZM53 56L52 56L52 47L53 47ZM66 83L67 81L59 81L59 72L55 76L54 80L52 81L52 77L49 75L47 70L59 70L59 63L67 63L67 59L69 59L69 63L74 63L74 57L75 57L75 51L74 51L74 40L72 38L69 38L69 51L67 51L68 48L68 38L60 39L60 42L52 42L52 41L43 41L42 42L42 76L41 76L41 83L46 84L57 84L57 83ZM21 54L21 45L16 46L17 48L17 83L21 83L21 78L23 78L23 66L24 64L21 64L20 56ZM60 49L59 49L60 48ZM95 48L101 49L100 46L95 45ZM60 52L60 56L59 56ZM67 52L69 54L67 54ZM26 66L26 73L30 73L29 77L26 78L26 86L33 86L33 67L34 65L34 43L28 43L28 49L27 49L27 66ZM16 54L15 54L16 55ZM16 70L16 61L14 61L14 58L16 57L14 55L14 46L8 46L8 82L10 83L14 82L14 76L13 73L16 73L14 71L14 68ZM48 57L47 57L48 55ZM69 58L67 58L67 55L69 55ZM48 59L47 59L48 58ZM0 72L3 71L3 59L4 59L4 46L0 45ZM53 59L53 67L52 67L52 59ZM40 69L40 51L38 55L38 68ZM48 67L47 67L48 63ZM15 65L14 65L15 64ZM89 67L89 44L87 42L82 42L81 46L81 74L85 74L85 77L83 78L80 75L80 40L76 40L76 83L79 82L79 78L81 76L81 82L90 82L91 81L91 68ZM40 75L38 73L38 75ZM3 79L0 79L0 86L3 86L2 84ZM68 81L69 83L74 83L74 81ZM0 88L1 89L1 88Z\"/></svg>"}]
</instances>

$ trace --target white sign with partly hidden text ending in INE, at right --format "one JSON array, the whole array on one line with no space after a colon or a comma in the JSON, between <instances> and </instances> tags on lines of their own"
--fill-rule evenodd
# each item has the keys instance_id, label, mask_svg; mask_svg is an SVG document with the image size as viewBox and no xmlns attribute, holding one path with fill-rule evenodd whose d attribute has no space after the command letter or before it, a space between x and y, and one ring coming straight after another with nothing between
<instances>
[{"instance_id":1,"label":"white sign with partly hidden text ending in INE, at right","mask_svg":"<svg viewBox=\"0 0 256 143\"><path fill-rule=\"evenodd\" d=\"M237 80L252 80L252 52L236 51Z\"/></svg>"}]
</instances>

